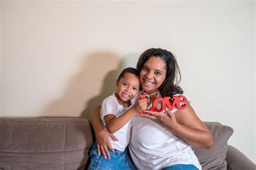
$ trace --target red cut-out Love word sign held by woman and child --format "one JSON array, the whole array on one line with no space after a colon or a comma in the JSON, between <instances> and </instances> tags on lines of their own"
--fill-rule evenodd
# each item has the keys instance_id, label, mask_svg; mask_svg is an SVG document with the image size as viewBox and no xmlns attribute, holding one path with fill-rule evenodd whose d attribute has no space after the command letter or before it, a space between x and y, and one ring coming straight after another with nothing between
<instances>
[{"instance_id":1,"label":"red cut-out Love word sign held by woman and child","mask_svg":"<svg viewBox=\"0 0 256 170\"><path fill-rule=\"evenodd\" d=\"M140 98L145 98L146 95L139 95ZM172 110L175 106L178 109L185 109L187 107L187 104L185 104L187 102L187 98L183 95L179 95L179 96L173 96L173 100L170 103L171 97L157 97L154 99L153 103L152 103L152 107L150 108L149 111L157 111L157 112L161 112L165 109L165 107L167 107L169 110ZM161 108L158 109L158 103L161 103ZM144 111L139 112L140 115L145 114Z\"/></svg>"}]
</instances>

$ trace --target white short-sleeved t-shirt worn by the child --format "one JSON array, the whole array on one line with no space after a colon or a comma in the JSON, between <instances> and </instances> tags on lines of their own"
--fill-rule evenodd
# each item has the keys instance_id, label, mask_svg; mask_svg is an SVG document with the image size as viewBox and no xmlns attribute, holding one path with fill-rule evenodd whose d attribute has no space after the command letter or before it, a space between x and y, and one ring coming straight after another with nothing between
<instances>
[{"instance_id":1,"label":"white short-sleeved t-shirt worn by the child","mask_svg":"<svg viewBox=\"0 0 256 170\"><path fill-rule=\"evenodd\" d=\"M105 124L104 116L106 115L116 115L116 117L124 114L125 111L129 110L134 101L131 101L131 105L127 108L123 107L123 105L118 104L116 96L113 95L105 98L102 103L102 108L100 109L100 119L102 120L103 124ZM132 119L131 119L132 120ZM114 132L114 136L118 139L118 141L114 141L110 138L110 144L113 148L124 151L127 145L129 144L130 140L130 133L131 133L131 120L127 122L121 129Z\"/></svg>"}]
</instances>

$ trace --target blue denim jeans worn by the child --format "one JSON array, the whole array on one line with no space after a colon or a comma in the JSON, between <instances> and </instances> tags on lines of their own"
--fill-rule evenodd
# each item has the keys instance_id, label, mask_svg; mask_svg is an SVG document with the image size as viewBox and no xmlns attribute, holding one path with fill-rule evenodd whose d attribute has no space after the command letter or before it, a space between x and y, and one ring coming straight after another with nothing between
<instances>
[{"instance_id":1,"label":"blue denim jeans worn by the child","mask_svg":"<svg viewBox=\"0 0 256 170\"><path fill-rule=\"evenodd\" d=\"M132 164L131 159L127 154L127 148L125 148L124 152L118 151L114 149L114 153L109 151L110 159L105 159L100 153L98 155L97 144L96 142L92 145L92 148L89 152L90 154L90 170L111 170L111 169L136 169Z\"/></svg>"}]
</instances>

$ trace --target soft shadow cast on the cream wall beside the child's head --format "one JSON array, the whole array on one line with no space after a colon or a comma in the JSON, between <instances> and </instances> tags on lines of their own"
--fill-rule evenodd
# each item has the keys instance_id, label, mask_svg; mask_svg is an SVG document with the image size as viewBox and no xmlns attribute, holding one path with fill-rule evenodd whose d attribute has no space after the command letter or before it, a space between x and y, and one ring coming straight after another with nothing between
<instances>
[{"instance_id":1,"label":"soft shadow cast on the cream wall beside the child's head","mask_svg":"<svg viewBox=\"0 0 256 170\"><path fill-rule=\"evenodd\" d=\"M92 108L116 91L116 79L123 68L136 67L138 56L129 54L120 58L111 52L86 55L82 69L71 78L63 95L46 105L41 114L44 117L88 117ZM95 89L101 89L99 94Z\"/></svg>"}]
</instances>

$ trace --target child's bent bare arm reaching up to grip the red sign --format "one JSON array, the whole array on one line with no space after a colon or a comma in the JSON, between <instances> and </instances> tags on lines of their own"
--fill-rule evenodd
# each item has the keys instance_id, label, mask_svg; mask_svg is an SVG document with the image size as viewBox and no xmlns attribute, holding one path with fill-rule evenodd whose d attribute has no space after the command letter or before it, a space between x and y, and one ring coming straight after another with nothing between
<instances>
[{"instance_id":1,"label":"child's bent bare arm reaching up to grip the red sign","mask_svg":"<svg viewBox=\"0 0 256 170\"><path fill-rule=\"evenodd\" d=\"M139 99L135 102L133 107L131 107L129 110L124 112L119 117L116 117L115 115L106 115L104 116L106 128L107 131L110 133L114 133L121 129L130 119L135 116L138 112L144 111L147 109L147 99Z\"/></svg>"}]
</instances>

